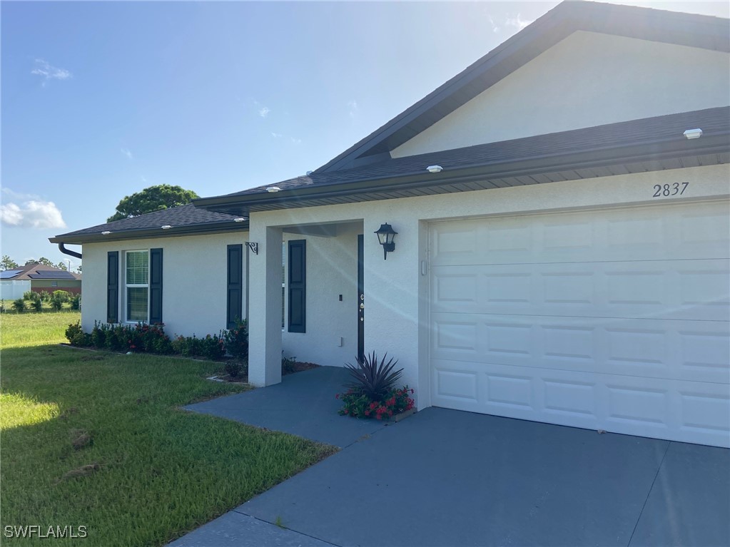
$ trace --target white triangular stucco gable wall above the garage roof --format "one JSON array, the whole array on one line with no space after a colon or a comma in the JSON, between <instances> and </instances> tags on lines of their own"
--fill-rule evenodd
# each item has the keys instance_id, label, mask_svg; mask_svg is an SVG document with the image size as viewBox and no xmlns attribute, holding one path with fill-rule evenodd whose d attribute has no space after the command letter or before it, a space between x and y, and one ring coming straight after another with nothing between
<instances>
[{"instance_id":1,"label":"white triangular stucco gable wall above the garage roof","mask_svg":"<svg viewBox=\"0 0 730 547\"><path fill-rule=\"evenodd\" d=\"M578 31L393 158L730 104L730 55Z\"/></svg>"}]
</instances>

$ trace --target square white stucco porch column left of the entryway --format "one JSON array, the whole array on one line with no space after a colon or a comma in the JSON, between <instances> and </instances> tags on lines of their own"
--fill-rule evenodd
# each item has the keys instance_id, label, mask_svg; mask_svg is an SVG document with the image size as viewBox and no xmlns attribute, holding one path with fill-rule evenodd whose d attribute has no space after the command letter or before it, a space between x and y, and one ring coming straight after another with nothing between
<instances>
[{"instance_id":1,"label":"square white stucco porch column left of the entryway","mask_svg":"<svg viewBox=\"0 0 730 547\"><path fill-rule=\"evenodd\" d=\"M281 381L281 228L251 222L249 254L248 381L258 387Z\"/></svg>"}]
</instances>

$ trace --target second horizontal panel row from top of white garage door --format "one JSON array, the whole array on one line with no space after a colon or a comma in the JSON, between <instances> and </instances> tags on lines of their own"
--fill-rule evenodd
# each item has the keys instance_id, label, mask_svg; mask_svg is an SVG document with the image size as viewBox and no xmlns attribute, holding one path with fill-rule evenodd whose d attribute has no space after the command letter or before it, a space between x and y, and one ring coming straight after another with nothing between
<instances>
[{"instance_id":1,"label":"second horizontal panel row from top of white garage door","mask_svg":"<svg viewBox=\"0 0 730 547\"><path fill-rule=\"evenodd\" d=\"M727 260L432 268L437 313L730 319Z\"/></svg>"}]
</instances>

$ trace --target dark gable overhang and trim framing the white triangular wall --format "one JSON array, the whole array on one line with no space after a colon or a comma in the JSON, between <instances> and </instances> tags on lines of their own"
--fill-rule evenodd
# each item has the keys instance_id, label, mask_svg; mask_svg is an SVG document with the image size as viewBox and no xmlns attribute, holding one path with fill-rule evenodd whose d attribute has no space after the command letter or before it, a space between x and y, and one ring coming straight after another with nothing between
<instances>
[{"instance_id":1,"label":"dark gable overhang and trim framing the white triangular wall","mask_svg":"<svg viewBox=\"0 0 730 547\"><path fill-rule=\"evenodd\" d=\"M390 158L391 150L576 31L730 51L730 26L723 18L564 1L314 172L340 171Z\"/></svg>"}]
</instances>

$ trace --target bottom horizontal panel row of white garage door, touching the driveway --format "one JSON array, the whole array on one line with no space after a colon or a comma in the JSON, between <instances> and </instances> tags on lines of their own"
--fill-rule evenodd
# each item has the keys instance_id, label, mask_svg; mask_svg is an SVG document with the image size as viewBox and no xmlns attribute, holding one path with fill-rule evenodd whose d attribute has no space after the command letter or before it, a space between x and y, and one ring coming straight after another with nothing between
<instances>
[{"instance_id":1,"label":"bottom horizontal panel row of white garage door, touching the driveway","mask_svg":"<svg viewBox=\"0 0 730 547\"><path fill-rule=\"evenodd\" d=\"M461 384L457 387L453 379ZM537 422L730 446L730 397L717 384L434 361L433 403Z\"/></svg>"}]
</instances>

